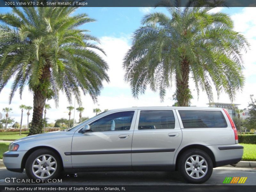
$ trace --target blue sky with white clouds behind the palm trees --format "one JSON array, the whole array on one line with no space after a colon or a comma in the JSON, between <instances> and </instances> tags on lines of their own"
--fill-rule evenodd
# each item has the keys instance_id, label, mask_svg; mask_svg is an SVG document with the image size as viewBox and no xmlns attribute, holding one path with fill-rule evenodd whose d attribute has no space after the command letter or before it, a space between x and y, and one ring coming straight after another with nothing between
<instances>
[{"instance_id":1,"label":"blue sky with white clouds behind the palm trees","mask_svg":"<svg viewBox=\"0 0 256 192\"><path fill-rule=\"evenodd\" d=\"M0 12L9 12L10 8L0 8ZM107 57L104 59L108 62L110 70L110 84L104 84L105 87L101 92L99 97L99 108L103 111L104 109L113 109L113 108L123 108L123 107L132 107L132 106L171 106L174 101L170 99L173 92L175 91L175 86L171 90L168 90L165 101L160 102L158 93L151 92L148 90L145 95L141 95L139 100L132 98L131 90L129 85L123 81L124 70L122 69L122 60L124 54L129 49L131 45L130 37L132 36L133 31L140 27L140 21L143 15L148 12L161 11L167 13L164 8L93 8L93 7L84 7L79 8L76 13L87 13L91 18L96 19L97 22L85 24L82 28L90 30L90 34L97 36L101 40L101 47L107 53ZM228 13L234 20L235 29L243 33L249 42L251 43L251 50L244 55L245 61L245 70L244 75L246 76L246 83L243 92L237 94L237 98L234 103L241 104L240 108L246 108L250 100L249 95L254 94L256 97L256 8L216 8L214 11L221 11ZM8 83L6 88L0 94L0 108L8 107L8 95L9 87L11 82ZM191 90L194 90L194 84L190 82ZM199 100L197 100L196 92L192 91L194 99L191 100L191 105L196 105L198 107L207 106L208 102L206 94L200 92ZM20 122L20 109L18 108L20 104L33 106L33 96L32 93L29 93L28 90L24 91L22 100L20 100L19 95L16 94L12 104L9 107L13 108L12 117L16 121ZM219 102L229 102L228 96L223 93L220 96L220 99L217 100L215 94L214 101ZM54 102L48 101L52 106L52 109L47 112L47 116L50 118L49 122L54 122L55 119L60 117L66 117L68 102L64 95L60 95L60 106L55 108ZM76 105L77 107L77 105ZM83 116L92 117L92 109L98 107L97 104L94 104L89 96L83 96L83 107L85 111ZM74 113L72 113L72 116ZM78 114L75 114L76 119L78 119ZM32 119L32 116L30 117Z\"/></svg>"}]
</instances>

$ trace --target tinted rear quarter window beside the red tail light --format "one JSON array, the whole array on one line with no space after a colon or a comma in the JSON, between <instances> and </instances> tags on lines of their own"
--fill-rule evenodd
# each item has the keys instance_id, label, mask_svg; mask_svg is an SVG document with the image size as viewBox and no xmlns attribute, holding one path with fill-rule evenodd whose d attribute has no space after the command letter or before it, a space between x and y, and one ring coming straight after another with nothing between
<instances>
[{"instance_id":1,"label":"tinted rear quarter window beside the red tail light","mask_svg":"<svg viewBox=\"0 0 256 192\"><path fill-rule=\"evenodd\" d=\"M184 128L226 128L221 111L178 110Z\"/></svg>"}]
</instances>

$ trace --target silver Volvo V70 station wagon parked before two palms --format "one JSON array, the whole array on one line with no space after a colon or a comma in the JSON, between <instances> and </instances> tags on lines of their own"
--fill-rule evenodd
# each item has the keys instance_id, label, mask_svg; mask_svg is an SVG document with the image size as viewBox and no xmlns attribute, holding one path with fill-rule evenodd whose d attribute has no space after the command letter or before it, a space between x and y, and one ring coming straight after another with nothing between
<instances>
[{"instance_id":1,"label":"silver Volvo V70 station wagon parked before two palms","mask_svg":"<svg viewBox=\"0 0 256 192\"><path fill-rule=\"evenodd\" d=\"M202 183L212 168L241 161L236 127L222 108L115 109L67 131L12 142L6 168L29 178L52 179L61 171L174 171Z\"/></svg>"}]
</instances>

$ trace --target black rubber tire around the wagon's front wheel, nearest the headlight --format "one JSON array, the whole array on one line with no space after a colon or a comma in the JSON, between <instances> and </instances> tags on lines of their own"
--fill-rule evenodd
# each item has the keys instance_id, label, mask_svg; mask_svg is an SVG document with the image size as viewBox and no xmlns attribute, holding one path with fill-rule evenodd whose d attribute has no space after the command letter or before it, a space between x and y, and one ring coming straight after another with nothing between
<instances>
[{"instance_id":1,"label":"black rubber tire around the wagon's front wheel, nearest the headlight","mask_svg":"<svg viewBox=\"0 0 256 192\"><path fill-rule=\"evenodd\" d=\"M49 159L50 156L52 156L52 160L51 162L47 161L47 163L45 161L43 161L42 158L39 158L42 160L42 164L44 167L42 167L40 164L36 163L36 159L40 156L43 156L43 155L46 155L46 160ZM45 163L44 163L45 162ZM54 162L55 162L55 165L54 165ZM34 164L38 164L38 166L40 168L35 168L35 169L32 169L32 166ZM45 165L44 165L45 164ZM50 169L49 169L49 166L50 166ZM47 175L47 173L44 173L45 177L46 178L40 178L40 176L36 175L34 172L36 172L37 170L39 170L39 173L40 174L40 169L43 168L43 171L46 172L45 169L48 168L48 171L50 172L50 176ZM55 168L55 171L54 170L51 170L52 168ZM25 165L25 170L26 170L26 173L28 175L28 177L30 179L33 179L33 180L41 180L41 182L47 182L48 179L54 179L54 178L57 178L59 175L60 175L60 172L62 170L62 162L61 162L61 159L59 157L58 154L56 154L54 151L50 150L50 149L37 149L36 151L34 151L33 153L30 154L30 156L28 156L28 159L26 161L26 165Z\"/></svg>"}]
</instances>

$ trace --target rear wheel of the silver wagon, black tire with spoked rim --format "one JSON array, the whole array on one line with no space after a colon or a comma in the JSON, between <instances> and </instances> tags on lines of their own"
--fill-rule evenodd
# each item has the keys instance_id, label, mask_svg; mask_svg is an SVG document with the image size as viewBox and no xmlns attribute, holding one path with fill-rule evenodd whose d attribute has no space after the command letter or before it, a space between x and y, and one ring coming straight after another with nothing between
<instances>
[{"instance_id":1,"label":"rear wheel of the silver wagon, black tire with spoked rim","mask_svg":"<svg viewBox=\"0 0 256 192\"><path fill-rule=\"evenodd\" d=\"M191 161L191 159L189 158L191 156L192 159L194 159L195 161ZM198 161L196 161L196 156L198 157ZM202 161L202 157L204 158L204 162ZM203 163L200 163L200 161ZM191 164L189 165L190 162ZM205 168L205 166L207 168ZM178 168L183 178L189 183L204 183L212 175L212 159L203 150L196 148L188 149L180 156ZM186 171L186 169L188 169L188 171ZM192 176L190 176L189 174L192 174Z\"/></svg>"}]
</instances>

